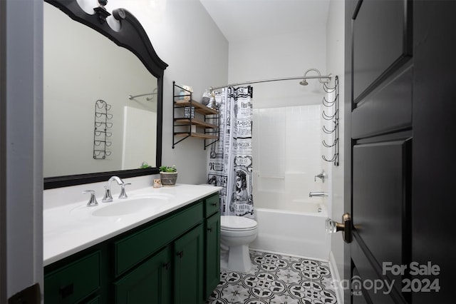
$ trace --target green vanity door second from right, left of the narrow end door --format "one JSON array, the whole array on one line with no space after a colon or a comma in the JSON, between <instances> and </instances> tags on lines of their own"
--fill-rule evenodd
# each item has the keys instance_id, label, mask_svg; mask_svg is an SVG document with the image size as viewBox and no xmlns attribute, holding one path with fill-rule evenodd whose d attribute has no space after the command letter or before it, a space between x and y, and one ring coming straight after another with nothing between
<instances>
[{"instance_id":1,"label":"green vanity door second from right, left of the narrow end door","mask_svg":"<svg viewBox=\"0 0 456 304\"><path fill-rule=\"evenodd\" d=\"M203 231L202 225L175 241L174 303L202 303Z\"/></svg>"}]
</instances>

